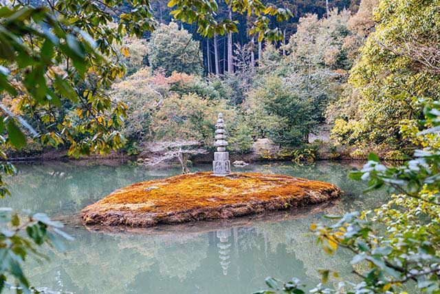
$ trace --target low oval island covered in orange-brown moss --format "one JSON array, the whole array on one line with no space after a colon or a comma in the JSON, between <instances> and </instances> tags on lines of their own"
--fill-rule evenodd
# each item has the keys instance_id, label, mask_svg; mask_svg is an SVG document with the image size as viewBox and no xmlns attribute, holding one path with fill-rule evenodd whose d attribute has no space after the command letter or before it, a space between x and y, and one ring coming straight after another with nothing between
<instances>
[{"instance_id":1,"label":"low oval island covered in orange-brown moss","mask_svg":"<svg viewBox=\"0 0 440 294\"><path fill-rule=\"evenodd\" d=\"M85 207L82 217L85 224L151 227L290 209L337 198L340 193L330 183L291 176L199 172L118 189Z\"/></svg>"}]
</instances>

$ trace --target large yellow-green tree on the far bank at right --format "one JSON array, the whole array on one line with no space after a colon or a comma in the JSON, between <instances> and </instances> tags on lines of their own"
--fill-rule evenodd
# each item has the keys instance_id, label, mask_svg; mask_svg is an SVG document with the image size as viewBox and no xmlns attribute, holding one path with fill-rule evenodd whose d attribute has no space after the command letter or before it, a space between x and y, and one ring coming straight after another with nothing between
<instances>
[{"instance_id":1,"label":"large yellow-green tree on the far bank at right","mask_svg":"<svg viewBox=\"0 0 440 294\"><path fill-rule=\"evenodd\" d=\"M415 125L423 103L439 100L437 1L381 1L375 32L351 72L333 136L343 144L409 147L400 125ZM347 100L351 100L347 103ZM354 105L353 105L354 104Z\"/></svg>"}]
</instances>

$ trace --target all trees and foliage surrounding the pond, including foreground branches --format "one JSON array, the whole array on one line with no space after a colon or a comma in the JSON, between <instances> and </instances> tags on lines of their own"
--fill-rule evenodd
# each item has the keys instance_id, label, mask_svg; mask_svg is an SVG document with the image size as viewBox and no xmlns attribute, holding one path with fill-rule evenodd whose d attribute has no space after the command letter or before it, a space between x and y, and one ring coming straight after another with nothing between
<instances>
[{"instance_id":1,"label":"all trees and foliage surrounding the pond, including foreground branches","mask_svg":"<svg viewBox=\"0 0 440 294\"><path fill-rule=\"evenodd\" d=\"M310 224L354 276L320 269L312 293L440 293L439 32L438 0L0 1L0 194L23 156L194 164L221 112L236 158L363 160L350 178L386 189ZM78 242L19 209L0 210L0 292L35 291L22 268L38 246Z\"/></svg>"}]
</instances>

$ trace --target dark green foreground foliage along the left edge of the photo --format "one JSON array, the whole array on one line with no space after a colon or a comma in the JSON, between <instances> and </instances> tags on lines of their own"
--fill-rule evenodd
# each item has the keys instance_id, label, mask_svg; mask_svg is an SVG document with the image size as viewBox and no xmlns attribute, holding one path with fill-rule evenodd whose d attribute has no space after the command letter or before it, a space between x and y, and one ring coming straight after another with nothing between
<instances>
[{"instance_id":1,"label":"dark green foreground foliage along the left edge of the photo","mask_svg":"<svg viewBox=\"0 0 440 294\"><path fill-rule=\"evenodd\" d=\"M55 11L75 9L64 5L58 3L56 7L52 6L52 10L21 5L1 8L0 93L4 95L6 92L18 99L18 109L39 122L35 129L23 118L2 107L3 159L8 159L4 153L6 147L21 149L27 144L25 132L19 125L43 145L69 143L69 154L77 156L109 151L123 144L122 136L113 128L120 125L125 107L112 104L101 87L109 85L124 67L117 67L102 56L109 52L109 48L100 47L94 41L98 31L94 30L96 27L89 27L89 19L72 25L68 20L54 16ZM97 13L96 10L98 8L91 8L89 12ZM133 14L133 17L136 16L139 14ZM125 21L130 26L132 19L128 17ZM100 19L98 23L107 24L107 20ZM110 28L108 30L113 32ZM115 41L112 34L107 38L108 43ZM75 83L84 87L76 87ZM96 87L97 84L100 87ZM75 121L63 111L66 106L76 112ZM5 174L16 171L4 161L1 169ZM1 196L8 195L3 180L0 186ZM69 238L59 230L62 224L52 222L42 213L26 214L28 216L21 222L19 213L1 209L3 224L10 222L11 227L3 227L0 233L0 291L5 286L5 274L8 274L15 278L21 291L29 293L30 284L23 275L21 263L30 253L41 257L34 249L35 245L51 244L63 249L56 235Z\"/></svg>"}]
</instances>

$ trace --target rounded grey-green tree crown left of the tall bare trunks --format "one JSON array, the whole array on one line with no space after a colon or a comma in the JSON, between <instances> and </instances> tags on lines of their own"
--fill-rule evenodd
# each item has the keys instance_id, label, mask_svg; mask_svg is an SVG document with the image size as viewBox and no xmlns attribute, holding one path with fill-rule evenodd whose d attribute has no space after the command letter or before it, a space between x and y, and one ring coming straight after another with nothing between
<instances>
[{"instance_id":1,"label":"rounded grey-green tree crown left of the tall bare trunks","mask_svg":"<svg viewBox=\"0 0 440 294\"><path fill-rule=\"evenodd\" d=\"M161 24L151 34L148 61L153 70L162 67L168 76L172 72L201 74L201 58L199 43L192 39L192 34L187 30L179 29L175 22Z\"/></svg>"}]
</instances>

